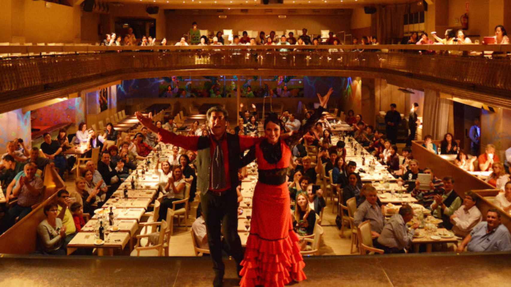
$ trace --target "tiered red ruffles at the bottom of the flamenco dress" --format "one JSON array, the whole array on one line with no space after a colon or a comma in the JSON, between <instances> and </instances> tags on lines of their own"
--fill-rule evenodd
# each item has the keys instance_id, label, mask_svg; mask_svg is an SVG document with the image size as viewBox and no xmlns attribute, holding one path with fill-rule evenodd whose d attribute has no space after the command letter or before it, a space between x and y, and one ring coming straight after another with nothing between
<instances>
[{"instance_id":1,"label":"tiered red ruffles at the bottom of the flamenco dress","mask_svg":"<svg viewBox=\"0 0 511 287\"><path fill-rule=\"evenodd\" d=\"M293 230L289 236L279 240L265 240L250 234L241 262L243 276L241 287L264 285L282 287L292 280L307 279L303 271L305 263L298 247L298 236Z\"/></svg>"}]
</instances>

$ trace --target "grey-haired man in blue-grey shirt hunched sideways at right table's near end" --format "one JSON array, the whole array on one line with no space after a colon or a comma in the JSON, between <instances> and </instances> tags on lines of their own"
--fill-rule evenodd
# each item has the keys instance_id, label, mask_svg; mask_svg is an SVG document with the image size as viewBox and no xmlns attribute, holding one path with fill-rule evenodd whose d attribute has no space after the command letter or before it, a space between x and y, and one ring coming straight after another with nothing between
<instances>
[{"instance_id":1,"label":"grey-haired man in blue-grey shirt hunched sideways at right table's near end","mask_svg":"<svg viewBox=\"0 0 511 287\"><path fill-rule=\"evenodd\" d=\"M419 227L419 224L414 223L411 229L408 230L406 223L412 218L413 210L411 206L401 206L399 213L394 214L383 226L376 247L383 249L385 253L404 253L404 249L412 243L415 229Z\"/></svg>"}]
</instances>

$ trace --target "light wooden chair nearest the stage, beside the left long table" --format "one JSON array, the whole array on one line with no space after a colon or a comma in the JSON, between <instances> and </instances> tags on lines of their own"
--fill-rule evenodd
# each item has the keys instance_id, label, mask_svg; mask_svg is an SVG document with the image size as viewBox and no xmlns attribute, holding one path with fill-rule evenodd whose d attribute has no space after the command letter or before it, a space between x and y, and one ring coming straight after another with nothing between
<instances>
[{"instance_id":1,"label":"light wooden chair nearest the stage, beside the left long table","mask_svg":"<svg viewBox=\"0 0 511 287\"><path fill-rule=\"evenodd\" d=\"M149 234L138 234L136 236L137 242L133 251L131 251L131 256L162 256L164 252L164 237L165 230L167 230L167 222L162 220L161 222L146 222L141 223L143 226L148 227L151 226L152 229L157 230L157 227L160 227L160 231L149 233ZM154 234L157 234L157 242L151 243L149 240L150 237L153 237ZM147 239L146 244L141 244L141 239Z\"/></svg>"}]
</instances>

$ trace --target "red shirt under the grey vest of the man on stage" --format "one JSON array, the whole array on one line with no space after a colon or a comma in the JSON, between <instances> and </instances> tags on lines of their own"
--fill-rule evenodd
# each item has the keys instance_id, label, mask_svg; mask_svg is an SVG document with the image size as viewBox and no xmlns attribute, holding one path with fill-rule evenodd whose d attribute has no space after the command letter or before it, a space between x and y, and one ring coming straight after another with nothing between
<instances>
[{"instance_id":1,"label":"red shirt under the grey vest of the man on stage","mask_svg":"<svg viewBox=\"0 0 511 287\"><path fill-rule=\"evenodd\" d=\"M213 152L215 151L215 148L217 147L216 141L213 139L213 135L210 135L210 152L211 156L213 157ZM174 145L177 145L179 147L182 147L184 149L197 151L197 145L199 143L199 137L198 136L181 136L176 135L174 133L171 133L167 131L167 129L160 128L158 129L158 139L160 142L164 143L171 143ZM252 147L253 145L261 142L264 138L253 138L253 137L246 137L246 136L240 136L240 151L245 151ZM211 187L211 180L210 180L210 190L213 191L225 191L231 188L230 186L230 174L229 174L229 161L227 160L229 158L229 150L227 148L227 141L225 140L225 137L221 140L222 144L222 153L224 158L224 172L225 172L225 189L222 190L214 190ZM210 174L211 176L211 174Z\"/></svg>"}]
</instances>

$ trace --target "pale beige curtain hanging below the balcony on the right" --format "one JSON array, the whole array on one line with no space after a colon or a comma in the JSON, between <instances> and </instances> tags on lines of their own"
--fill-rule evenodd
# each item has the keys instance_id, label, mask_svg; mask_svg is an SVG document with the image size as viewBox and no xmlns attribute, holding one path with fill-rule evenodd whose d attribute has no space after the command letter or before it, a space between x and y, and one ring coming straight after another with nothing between
<instances>
[{"instance_id":1,"label":"pale beige curtain hanging below the balcony on the right","mask_svg":"<svg viewBox=\"0 0 511 287\"><path fill-rule=\"evenodd\" d=\"M433 140L443 140L447 132L453 132L452 101L440 98L438 91L424 90L423 138L431 135Z\"/></svg>"}]
</instances>

